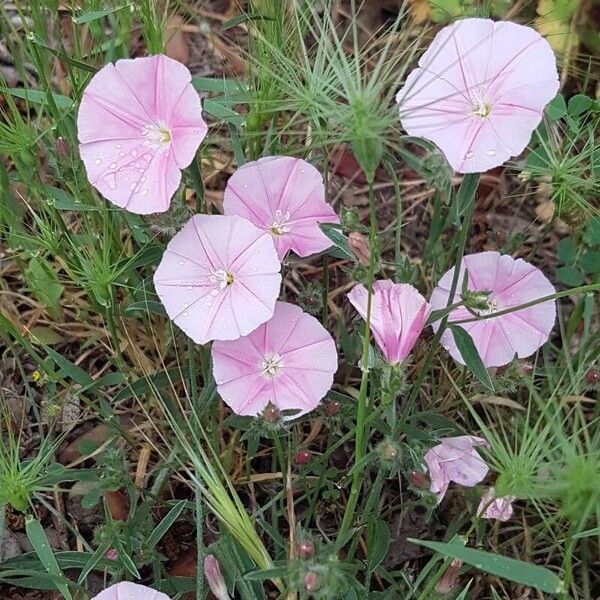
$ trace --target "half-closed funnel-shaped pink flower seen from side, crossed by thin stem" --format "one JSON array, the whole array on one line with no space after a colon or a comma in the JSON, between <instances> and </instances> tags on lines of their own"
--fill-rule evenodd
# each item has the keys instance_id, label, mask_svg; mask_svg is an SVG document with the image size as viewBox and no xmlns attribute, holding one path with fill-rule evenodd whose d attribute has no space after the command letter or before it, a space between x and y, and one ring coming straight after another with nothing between
<instances>
[{"instance_id":1,"label":"half-closed funnel-shaped pink flower seen from side, crossed by thin stem","mask_svg":"<svg viewBox=\"0 0 600 600\"><path fill-rule=\"evenodd\" d=\"M367 318L367 289L355 285L348 300ZM385 359L401 363L410 354L429 316L431 307L412 286L382 279L373 284L371 331Z\"/></svg>"}]
</instances>

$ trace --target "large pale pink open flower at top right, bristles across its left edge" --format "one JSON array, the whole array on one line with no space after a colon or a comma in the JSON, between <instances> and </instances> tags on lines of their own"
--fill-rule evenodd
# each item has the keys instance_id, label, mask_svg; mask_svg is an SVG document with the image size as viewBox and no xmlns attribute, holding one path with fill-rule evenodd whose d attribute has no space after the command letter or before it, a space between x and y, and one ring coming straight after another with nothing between
<instances>
[{"instance_id":1,"label":"large pale pink open flower at top right, bristles across its left edge","mask_svg":"<svg viewBox=\"0 0 600 600\"><path fill-rule=\"evenodd\" d=\"M530 27L461 19L444 27L396 101L410 135L439 146L460 173L520 154L558 91L556 59Z\"/></svg>"}]
</instances>

